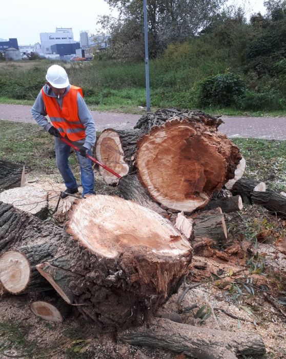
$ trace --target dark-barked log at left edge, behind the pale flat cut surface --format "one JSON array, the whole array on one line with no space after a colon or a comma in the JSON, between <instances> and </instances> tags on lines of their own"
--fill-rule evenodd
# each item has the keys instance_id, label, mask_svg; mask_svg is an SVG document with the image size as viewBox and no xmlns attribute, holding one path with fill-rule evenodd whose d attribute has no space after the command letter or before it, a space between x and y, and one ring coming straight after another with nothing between
<instances>
[{"instance_id":1,"label":"dark-barked log at left edge, behind the pale flat cut surface","mask_svg":"<svg viewBox=\"0 0 286 359\"><path fill-rule=\"evenodd\" d=\"M0 160L0 192L21 184L23 165Z\"/></svg>"}]
</instances>

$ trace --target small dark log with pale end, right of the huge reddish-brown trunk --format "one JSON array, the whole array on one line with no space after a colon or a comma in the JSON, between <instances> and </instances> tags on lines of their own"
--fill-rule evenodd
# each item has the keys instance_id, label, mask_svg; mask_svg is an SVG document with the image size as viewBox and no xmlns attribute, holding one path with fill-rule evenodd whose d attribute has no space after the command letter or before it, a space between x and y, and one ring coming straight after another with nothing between
<instances>
[{"instance_id":1,"label":"small dark log with pale end, right of the huge reddish-brown trunk","mask_svg":"<svg viewBox=\"0 0 286 359\"><path fill-rule=\"evenodd\" d=\"M252 204L251 196L253 191L265 192L266 185L264 182L255 181L249 178L240 178L233 185L231 192L235 195L240 195L244 204Z\"/></svg>"}]
</instances>

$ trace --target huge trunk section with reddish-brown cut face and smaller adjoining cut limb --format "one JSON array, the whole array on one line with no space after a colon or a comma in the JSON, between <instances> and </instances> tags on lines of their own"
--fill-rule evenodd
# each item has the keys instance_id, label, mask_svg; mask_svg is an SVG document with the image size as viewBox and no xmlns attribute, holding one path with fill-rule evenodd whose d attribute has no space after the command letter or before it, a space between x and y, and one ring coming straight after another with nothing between
<instances>
[{"instance_id":1,"label":"huge trunk section with reddish-brown cut face and smaller adjoining cut limb","mask_svg":"<svg viewBox=\"0 0 286 359\"><path fill-rule=\"evenodd\" d=\"M156 113L147 116L147 123L141 121L135 130L104 131L96 155L120 175L137 175L147 196L164 208L192 212L206 206L212 194L234 177L241 156L217 131L217 118L200 112L188 113L189 117L176 114L170 121L161 117L158 121ZM107 183L118 182L100 171ZM125 198L136 198L138 186L123 187Z\"/></svg>"}]
</instances>

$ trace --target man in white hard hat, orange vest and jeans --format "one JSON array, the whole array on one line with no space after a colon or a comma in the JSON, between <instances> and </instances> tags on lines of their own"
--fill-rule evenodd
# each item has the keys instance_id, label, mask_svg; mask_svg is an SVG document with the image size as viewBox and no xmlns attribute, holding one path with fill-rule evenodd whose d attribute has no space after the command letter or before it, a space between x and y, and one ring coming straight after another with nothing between
<instances>
[{"instance_id":1,"label":"man in white hard hat, orange vest and jeans","mask_svg":"<svg viewBox=\"0 0 286 359\"><path fill-rule=\"evenodd\" d=\"M66 138L79 147L76 151L80 165L83 196L95 194L92 162L86 157L91 154L95 143L95 123L83 98L81 88L70 85L66 70L58 65L48 68L47 83L39 92L32 107L35 121L55 136L56 165L62 175L66 193L77 193L78 185L69 166L70 147L60 140ZM51 123L46 115L49 115ZM62 197L67 194L63 193Z\"/></svg>"}]
</instances>

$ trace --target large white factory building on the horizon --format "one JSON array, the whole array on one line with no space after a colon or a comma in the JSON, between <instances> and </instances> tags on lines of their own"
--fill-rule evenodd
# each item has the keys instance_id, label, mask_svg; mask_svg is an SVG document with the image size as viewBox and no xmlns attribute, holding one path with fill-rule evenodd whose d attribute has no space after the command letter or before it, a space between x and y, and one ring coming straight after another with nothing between
<instances>
[{"instance_id":1,"label":"large white factory building on the horizon","mask_svg":"<svg viewBox=\"0 0 286 359\"><path fill-rule=\"evenodd\" d=\"M44 54L51 54L51 46L55 44L75 44L72 28L56 28L56 32L41 32L40 47Z\"/></svg>"}]
</instances>

